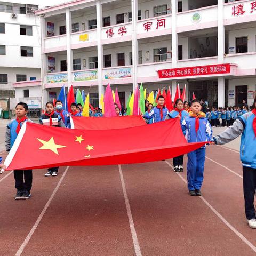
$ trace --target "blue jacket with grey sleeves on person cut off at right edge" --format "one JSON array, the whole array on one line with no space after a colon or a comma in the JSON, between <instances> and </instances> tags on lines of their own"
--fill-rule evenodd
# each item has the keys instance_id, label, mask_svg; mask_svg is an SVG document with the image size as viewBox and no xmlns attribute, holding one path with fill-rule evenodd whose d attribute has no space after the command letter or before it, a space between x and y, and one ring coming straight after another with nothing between
<instances>
[{"instance_id":1,"label":"blue jacket with grey sleeves on person cut off at right edge","mask_svg":"<svg viewBox=\"0 0 256 256\"><path fill-rule=\"evenodd\" d=\"M254 117L252 112L239 116L233 126L229 126L213 139L217 145L222 145L234 140L242 133L240 159L243 166L256 169L256 139L254 139L255 134L252 127Z\"/></svg>"}]
</instances>

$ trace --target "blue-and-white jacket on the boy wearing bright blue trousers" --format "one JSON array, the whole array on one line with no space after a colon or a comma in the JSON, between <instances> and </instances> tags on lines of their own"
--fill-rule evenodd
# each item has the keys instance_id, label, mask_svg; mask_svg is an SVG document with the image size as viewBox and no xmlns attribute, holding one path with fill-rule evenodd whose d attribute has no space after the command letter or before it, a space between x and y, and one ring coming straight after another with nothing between
<instances>
[{"instance_id":1,"label":"blue-and-white jacket on the boy wearing bright blue trousers","mask_svg":"<svg viewBox=\"0 0 256 256\"><path fill-rule=\"evenodd\" d=\"M202 142L212 139L212 127L206 117L199 118L199 129L197 133L195 125L196 118L193 116L188 116L181 124L182 131L186 131L185 138L188 142Z\"/></svg>"}]
</instances>

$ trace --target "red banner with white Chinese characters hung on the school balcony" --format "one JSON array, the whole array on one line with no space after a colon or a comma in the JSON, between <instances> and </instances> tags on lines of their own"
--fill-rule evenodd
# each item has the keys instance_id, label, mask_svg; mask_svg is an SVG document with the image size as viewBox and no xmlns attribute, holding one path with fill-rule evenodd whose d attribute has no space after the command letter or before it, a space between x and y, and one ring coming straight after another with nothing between
<instances>
[{"instance_id":1,"label":"red banner with white Chinese characters hung on the school balcony","mask_svg":"<svg viewBox=\"0 0 256 256\"><path fill-rule=\"evenodd\" d=\"M230 64L218 64L208 66L197 66L187 68L171 68L158 70L159 78L185 77L185 76L204 76L229 74Z\"/></svg>"}]
</instances>

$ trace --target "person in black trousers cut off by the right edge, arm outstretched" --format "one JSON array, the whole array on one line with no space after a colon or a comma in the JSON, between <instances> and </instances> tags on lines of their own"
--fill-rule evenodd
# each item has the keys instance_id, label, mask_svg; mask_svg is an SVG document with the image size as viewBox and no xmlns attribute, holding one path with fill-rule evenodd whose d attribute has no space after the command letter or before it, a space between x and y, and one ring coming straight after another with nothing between
<instances>
[{"instance_id":1,"label":"person in black trousers cut off by the right edge, arm outstretched","mask_svg":"<svg viewBox=\"0 0 256 256\"><path fill-rule=\"evenodd\" d=\"M249 227L256 228L254 208L256 189L256 97L252 105L252 111L239 116L232 126L213 137L213 141L217 145L222 145L234 140L241 133L240 159L243 165L245 215Z\"/></svg>"}]
</instances>

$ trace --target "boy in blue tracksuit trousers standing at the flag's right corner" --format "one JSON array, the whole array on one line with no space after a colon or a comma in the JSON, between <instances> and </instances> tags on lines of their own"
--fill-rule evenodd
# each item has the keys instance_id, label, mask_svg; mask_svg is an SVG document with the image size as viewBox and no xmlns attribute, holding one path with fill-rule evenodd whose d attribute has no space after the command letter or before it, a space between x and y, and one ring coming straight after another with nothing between
<instances>
[{"instance_id":1,"label":"boy in blue tracksuit trousers standing at the flag's right corner","mask_svg":"<svg viewBox=\"0 0 256 256\"><path fill-rule=\"evenodd\" d=\"M212 129L201 110L199 100L191 102L191 112L182 122L182 130L186 131L188 143L210 141ZM187 180L190 196L201 196L201 186L204 178L205 146L192 151L188 155Z\"/></svg>"}]
</instances>

